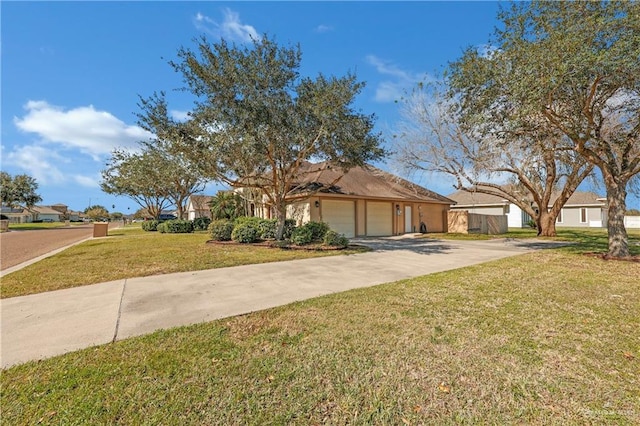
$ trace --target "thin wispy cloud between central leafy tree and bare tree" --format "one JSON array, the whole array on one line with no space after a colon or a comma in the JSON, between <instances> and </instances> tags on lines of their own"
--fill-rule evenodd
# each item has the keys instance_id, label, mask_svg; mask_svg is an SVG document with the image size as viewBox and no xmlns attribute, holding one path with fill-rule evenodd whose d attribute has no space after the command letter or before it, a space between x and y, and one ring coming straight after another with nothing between
<instances>
[{"instance_id":1,"label":"thin wispy cloud between central leafy tree and bare tree","mask_svg":"<svg viewBox=\"0 0 640 426\"><path fill-rule=\"evenodd\" d=\"M419 82L430 81L433 78L427 73L410 73L398 66L385 62L374 55L367 56L367 62L376 68L378 73L390 77L378 83L375 101L386 103L399 100L404 91L411 89Z\"/></svg>"}]
</instances>

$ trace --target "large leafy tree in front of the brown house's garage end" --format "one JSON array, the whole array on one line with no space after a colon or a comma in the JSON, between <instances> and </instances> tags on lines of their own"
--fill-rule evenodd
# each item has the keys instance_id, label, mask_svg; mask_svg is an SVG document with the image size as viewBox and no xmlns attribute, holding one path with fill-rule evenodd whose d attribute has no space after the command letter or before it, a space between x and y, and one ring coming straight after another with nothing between
<instances>
[{"instance_id":1,"label":"large leafy tree in front of the brown house's garage end","mask_svg":"<svg viewBox=\"0 0 640 426\"><path fill-rule=\"evenodd\" d=\"M191 137L180 138L183 152L212 179L260 189L278 219L278 238L305 161L327 160L346 172L385 155L372 133L374 116L353 108L364 87L354 75L301 77L300 47L266 36L250 47L197 42L171 62L197 98Z\"/></svg>"}]
</instances>

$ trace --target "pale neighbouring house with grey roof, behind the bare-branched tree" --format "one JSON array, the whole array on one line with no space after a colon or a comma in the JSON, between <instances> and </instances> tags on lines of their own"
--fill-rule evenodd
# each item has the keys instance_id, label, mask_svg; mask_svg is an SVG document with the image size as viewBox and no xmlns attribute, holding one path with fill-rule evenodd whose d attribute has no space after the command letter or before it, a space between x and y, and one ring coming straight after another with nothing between
<instances>
[{"instance_id":1,"label":"pale neighbouring house with grey roof, behind the bare-branched tree","mask_svg":"<svg viewBox=\"0 0 640 426\"><path fill-rule=\"evenodd\" d=\"M526 228L531 216L505 198L481 192L458 191L448 198L456 202L452 210L467 210L469 213L506 215L509 228ZM552 197L553 200L557 198ZM576 191L569 197L556 220L556 227L606 226L606 199L593 192ZM551 207L551 205L549 206Z\"/></svg>"}]
</instances>

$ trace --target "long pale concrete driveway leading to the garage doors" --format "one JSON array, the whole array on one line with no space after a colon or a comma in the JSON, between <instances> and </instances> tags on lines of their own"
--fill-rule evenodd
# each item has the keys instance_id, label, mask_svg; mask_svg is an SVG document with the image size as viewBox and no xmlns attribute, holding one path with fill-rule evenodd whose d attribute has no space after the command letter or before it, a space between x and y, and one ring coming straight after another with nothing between
<instances>
[{"instance_id":1,"label":"long pale concrete driveway leading to the garage doors","mask_svg":"<svg viewBox=\"0 0 640 426\"><path fill-rule=\"evenodd\" d=\"M212 321L325 294L461 268L556 243L536 240L352 240L374 251L131 278L2 299L2 368L158 329Z\"/></svg>"}]
</instances>

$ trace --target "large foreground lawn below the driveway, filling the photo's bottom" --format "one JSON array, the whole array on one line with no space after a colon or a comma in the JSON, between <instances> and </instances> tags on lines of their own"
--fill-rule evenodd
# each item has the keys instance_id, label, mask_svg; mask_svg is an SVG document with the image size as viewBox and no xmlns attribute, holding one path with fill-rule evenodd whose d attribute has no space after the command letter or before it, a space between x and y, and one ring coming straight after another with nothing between
<instances>
[{"instance_id":1,"label":"large foreground lawn below the driveway, filling the photo's bottom","mask_svg":"<svg viewBox=\"0 0 640 426\"><path fill-rule=\"evenodd\" d=\"M640 423L640 267L566 249L3 371L3 424Z\"/></svg>"}]
</instances>

